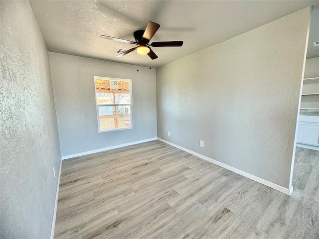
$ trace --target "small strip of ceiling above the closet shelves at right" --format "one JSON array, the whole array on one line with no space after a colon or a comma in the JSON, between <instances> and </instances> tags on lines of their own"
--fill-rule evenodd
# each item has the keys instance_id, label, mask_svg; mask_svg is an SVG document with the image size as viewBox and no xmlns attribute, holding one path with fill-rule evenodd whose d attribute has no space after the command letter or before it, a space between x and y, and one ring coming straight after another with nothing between
<instances>
[{"instance_id":1,"label":"small strip of ceiling above the closet shelves at right","mask_svg":"<svg viewBox=\"0 0 319 239\"><path fill-rule=\"evenodd\" d=\"M311 13L307 58L319 57L319 46L314 46L316 41L319 41L319 4L313 7Z\"/></svg>"}]
</instances>

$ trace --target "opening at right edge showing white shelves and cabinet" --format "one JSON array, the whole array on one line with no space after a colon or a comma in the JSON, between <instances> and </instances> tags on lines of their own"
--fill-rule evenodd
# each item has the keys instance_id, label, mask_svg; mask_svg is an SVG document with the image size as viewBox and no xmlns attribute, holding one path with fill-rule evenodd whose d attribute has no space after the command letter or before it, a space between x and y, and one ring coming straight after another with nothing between
<instances>
[{"instance_id":1,"label":"opening at right edge showing white shelves and cabinet","mask_svg":"<svg viewBox=\"0 0 319 239\"><path fill-rule=\"evenodd\" d=\"M311 8L309 41L301 87L292 162L292 196L319 202L319 4Z\"/></svg>"}]
</instances>

